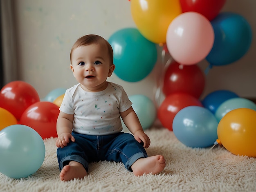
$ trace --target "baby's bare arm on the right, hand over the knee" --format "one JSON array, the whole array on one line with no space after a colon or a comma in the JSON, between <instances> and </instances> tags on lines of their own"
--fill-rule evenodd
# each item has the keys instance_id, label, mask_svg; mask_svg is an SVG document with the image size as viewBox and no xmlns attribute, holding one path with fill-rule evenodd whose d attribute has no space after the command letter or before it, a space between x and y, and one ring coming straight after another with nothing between
<instances>
[{"instance_id":1,"label":"baby's bare arm on the right, hand over the knee","mask_svg":"<svg viewBox=\"0 0 256 192\"><path fill-rule=\"evenodd\" d=\"M150 145L150 139L146 133L144 133L143 128L139 122L139 118L133 108L130 107L125 112L120 112L120 115L126 127L134 135L136 141L139 143L142 141L144 143L144 147L148 148Z\"/></svg>"}]
</instances>

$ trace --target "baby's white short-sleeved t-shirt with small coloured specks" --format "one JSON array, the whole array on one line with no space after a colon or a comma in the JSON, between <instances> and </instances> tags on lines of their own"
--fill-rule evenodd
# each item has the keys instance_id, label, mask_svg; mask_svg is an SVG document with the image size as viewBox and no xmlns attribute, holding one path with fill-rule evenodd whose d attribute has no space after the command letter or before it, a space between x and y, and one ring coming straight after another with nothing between
<instances>
[{"instance_id":1,"label":"baby's white short-sleeved t-shirt with small coloured specks","mask_svg":"<svg viewBox=\"0 0 256 192\"><path fill-rule=\"evenodd\" d=\"M121 85L108 82L101 92L86 92L81 84L67 89L60 111L74 114L73 130L88 135L108 135L121 132L119 112L132 106Z\"/></svg>"}]
</instances>

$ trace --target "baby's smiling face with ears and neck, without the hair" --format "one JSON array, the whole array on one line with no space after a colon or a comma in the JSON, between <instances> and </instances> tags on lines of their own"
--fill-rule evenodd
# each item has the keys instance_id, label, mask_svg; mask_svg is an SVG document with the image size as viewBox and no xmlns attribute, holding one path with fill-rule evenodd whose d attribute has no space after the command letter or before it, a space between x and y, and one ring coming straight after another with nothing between
<instances>
[{"instance_id":1,"label":"baby's smiling face with ears and neck, without the hair","mask_svg":"<svg viewBox=\"0 0 256 192\"><path fill-rule=\"evenodd\" d=\"M110 62L107 48L101 44L74 49L70 67L81 87L88 92L106 89L106 80L115 69L115 65Z\"/></svg>"}]
</instances>

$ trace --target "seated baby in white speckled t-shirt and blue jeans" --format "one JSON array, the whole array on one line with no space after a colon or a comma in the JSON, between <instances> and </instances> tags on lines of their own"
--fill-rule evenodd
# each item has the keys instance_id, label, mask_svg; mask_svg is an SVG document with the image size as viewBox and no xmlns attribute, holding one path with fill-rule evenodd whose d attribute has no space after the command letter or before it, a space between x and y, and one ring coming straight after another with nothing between
<instances>
[{"instance_id":1,"label":"seated baby in white speckled t-shirt and blue jeans","mask_svg":"<svg viewBox=\"0 0 256 192\"><path fill-rule=\"evenodd\" d=\"M70 68L78 84L67 89L57 120L60 179L83 179L88 163L123 162L135 176L157 174L162 155L148 157L150 139L144 133L123 87L107 81L115 69L107 40L86 35L74 43ZM130 132L122 131L121 118Z\"/></svg>"}]
</instances>

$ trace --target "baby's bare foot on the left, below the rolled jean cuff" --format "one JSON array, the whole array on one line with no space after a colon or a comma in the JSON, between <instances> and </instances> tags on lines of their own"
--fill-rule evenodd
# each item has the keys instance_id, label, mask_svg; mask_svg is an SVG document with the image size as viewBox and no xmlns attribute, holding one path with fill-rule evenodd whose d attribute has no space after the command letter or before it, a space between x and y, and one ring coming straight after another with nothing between
<instances>
[{"instance_id":1,"label":"baby's bare foot on the left, below the rolled jean cuff","mask_svg":"<svg viewBox=\"0 0 256 192\"><path fill-rule=\"evenodd\" d=\"M70 161L70 163L63 167L60 173L61 181L70 181L72 179L83 179L87 172L81 163Z\"/></svg>"}]
</instances>

